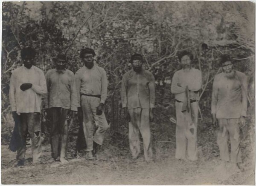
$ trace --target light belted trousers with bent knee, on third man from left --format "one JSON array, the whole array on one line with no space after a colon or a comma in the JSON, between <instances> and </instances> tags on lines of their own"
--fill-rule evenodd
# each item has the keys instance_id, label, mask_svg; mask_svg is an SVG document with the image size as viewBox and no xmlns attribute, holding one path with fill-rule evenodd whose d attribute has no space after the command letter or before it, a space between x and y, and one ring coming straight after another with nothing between
<instances>
[{"instance_id":1,"label":"light belted trousers with bent knee, on third man from left","mask_svg":"<svg viewBox=\"0 0 256 186\"><path fill-rule=\"evenodd\" d=\"M109 129L104 112L96 114L100 98L81 95L81 107L83 111L83 129L86 142L85 151L93 150L93 141L99 145L103 144L105 134ZM95 124L95 125L94 125ZM97 127L95 134L94 127Z\"/></svg>"}]
</instances>

